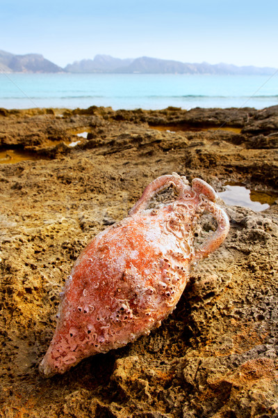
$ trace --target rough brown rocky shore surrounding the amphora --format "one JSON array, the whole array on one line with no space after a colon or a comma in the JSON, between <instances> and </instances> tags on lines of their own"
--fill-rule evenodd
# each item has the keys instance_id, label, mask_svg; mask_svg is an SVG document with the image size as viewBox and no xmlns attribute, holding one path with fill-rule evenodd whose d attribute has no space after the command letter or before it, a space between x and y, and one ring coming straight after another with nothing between
<instances>
[{"instance_id":1,"label":"rough brown rocky shore surrounding the amphora","mask_svg":"<svg viewBox=\"0 0 278 418\"><path fill-rule=\"evenodd\" d=\"M161 327L38 373L81 249L154 178L277 193L278 106L0 109L0 155L1 418L278 417L278 201L253 212L219 199L229 235ZM201 226L197 239L215 228Z\"/></svg>"}]
</instances>

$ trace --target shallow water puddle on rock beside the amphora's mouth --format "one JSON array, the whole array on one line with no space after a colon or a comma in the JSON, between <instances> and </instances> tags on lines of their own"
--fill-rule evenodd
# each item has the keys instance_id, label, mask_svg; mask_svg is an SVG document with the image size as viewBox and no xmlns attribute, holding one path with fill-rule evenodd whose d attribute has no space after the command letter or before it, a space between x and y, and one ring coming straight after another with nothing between
<instances>
[{"instance_id":1,"label":"shallow water puddle on rock beside the amphora's mouth","mask_svg":"<svg viewBox=\"0 0 278 418\"><path fill-rule=\"evenodd\" d=\"M218 193L218 196L227 205L243 206L250 208L255 212L270 208L278 199L278 193L262 192L260 190L247 189L242 184L227 183L224 192Z\"/></svg>"}]
</instances>

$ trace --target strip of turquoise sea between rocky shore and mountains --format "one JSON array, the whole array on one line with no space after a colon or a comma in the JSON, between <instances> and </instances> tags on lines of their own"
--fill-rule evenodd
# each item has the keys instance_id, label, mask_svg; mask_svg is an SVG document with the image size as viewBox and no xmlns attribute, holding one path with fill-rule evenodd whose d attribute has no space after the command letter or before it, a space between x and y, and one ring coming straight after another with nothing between
<instances>
[{"instance_id":1,"label":"strip of turquoise sea between rocky shore and mountains","mask_svg":"<svg viewBox=\"0 0 278 418\"><path fill-rule=\"evenodd\" d=\"M278 74L145 75L0 73L0 107L111 106L164 109L168 106L264 107L278 104Z\"/></svg>"}]
</instances>

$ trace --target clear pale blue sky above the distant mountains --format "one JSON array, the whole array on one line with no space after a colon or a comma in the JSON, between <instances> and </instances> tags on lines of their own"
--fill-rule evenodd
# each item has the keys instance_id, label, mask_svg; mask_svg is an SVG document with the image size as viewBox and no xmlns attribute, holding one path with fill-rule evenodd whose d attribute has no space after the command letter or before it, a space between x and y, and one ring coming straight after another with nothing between
<instances>
[{"instance_id":1,"label":"clear pale blue sky above the distant mountains","mask_svg":"<svg viewBox=\"0 0 278 418\"><path fill-rule=\"evenodd\" d=\"M0 49L278 68L277 0L0 0Z\"/></svg>"}]
</instances>

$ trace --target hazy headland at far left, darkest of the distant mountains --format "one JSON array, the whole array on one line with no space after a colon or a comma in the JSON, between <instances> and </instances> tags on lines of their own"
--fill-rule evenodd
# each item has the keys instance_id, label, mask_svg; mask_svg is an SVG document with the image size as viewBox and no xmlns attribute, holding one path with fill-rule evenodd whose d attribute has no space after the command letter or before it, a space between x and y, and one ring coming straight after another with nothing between
<instances>
[{"instance_id":1,"label":"hazy headland at far left, darkest of the distant mountains","mask_svg":"<svg viewBox=\"0 0 278 418\"><path fill-rule=\"evenodd\" d=\"M15 55L0 51L0 71L5 72L61 72L58 65L41 54Z\"/></svg>"}]
</instances>

